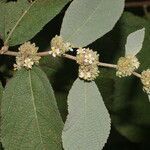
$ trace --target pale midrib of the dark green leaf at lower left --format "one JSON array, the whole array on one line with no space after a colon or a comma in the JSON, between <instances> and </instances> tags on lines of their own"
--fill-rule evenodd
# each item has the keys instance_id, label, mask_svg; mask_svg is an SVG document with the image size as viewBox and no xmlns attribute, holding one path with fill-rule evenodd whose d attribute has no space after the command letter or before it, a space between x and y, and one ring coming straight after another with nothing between
<instances>
[{"instance_id":1,"label":"pale midrib of the dark green leaf at lower left","mask_svg":"<svg viewBox=\"0 0 150 150\"><path fill-rule=\"evenodd\" d=\"M30 92L31 92L31 102L32 102L32 105L33 105L33 109L34 109L34 115L35 115L35 120L36 120L36 124L37 124L37 129L38 129L38 132L39 132L39 136L40 136L40 141L41 143L44 145L44 142L43 142L43 139L42 139L42 134L41 134L41 131L40 131L40 127L39 127L39 121L38 121L38 116L37 116L37 110L36 110L36 106L35 106L35 99L34 99L34 94L33 94L33 89L32 89L32 80L31 80L31 71L29 71L29 86L30 86ZM44 150L46 150L44 148Z\"/></svg>"}]
</instances>

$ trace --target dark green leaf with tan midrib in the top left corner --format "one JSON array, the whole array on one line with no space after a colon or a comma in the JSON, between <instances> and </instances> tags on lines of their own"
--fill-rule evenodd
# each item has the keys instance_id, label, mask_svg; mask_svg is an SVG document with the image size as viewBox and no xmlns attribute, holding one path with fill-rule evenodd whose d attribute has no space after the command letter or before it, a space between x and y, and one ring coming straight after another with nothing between
<instances>
[{"instance_id":1,"label":"dark green leaf with tan midrib in the top left corner","mask_svg":"<svg viewBox=\"0 0 150 150\"><path fill-rule=\"evenodd\" d=\"M70 0L19 0L0 2L0 35L9 45L30 40L53 19Z\"/></svg>"}]
</instances>

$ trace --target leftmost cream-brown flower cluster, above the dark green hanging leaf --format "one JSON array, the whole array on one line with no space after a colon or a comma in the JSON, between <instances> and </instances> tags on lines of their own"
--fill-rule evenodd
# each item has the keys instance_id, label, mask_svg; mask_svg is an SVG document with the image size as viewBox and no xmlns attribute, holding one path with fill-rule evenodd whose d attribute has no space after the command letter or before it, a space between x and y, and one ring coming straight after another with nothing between
<instances>
[{"instance_id":1,"label":"leftmost cream-brown flower cluster, above the dark green hanging leaf","mask_svg":"<svg viewBox=\"0 0 150 150\"><path fill-rule=\"evenodd\" d=\"M16 64L14 70L19 70L22 67L31 69L34 64L38 64L41 57L37 56L38 47L30 42L25 42L19 47L18 55L16 56Z\"/></svg>"}]
</instances>

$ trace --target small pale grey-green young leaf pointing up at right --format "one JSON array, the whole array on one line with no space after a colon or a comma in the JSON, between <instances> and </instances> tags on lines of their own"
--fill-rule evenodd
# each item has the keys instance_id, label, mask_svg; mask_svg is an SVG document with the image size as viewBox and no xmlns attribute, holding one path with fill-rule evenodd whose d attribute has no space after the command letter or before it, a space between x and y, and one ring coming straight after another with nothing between
<instances>
[{"instance_id":1,"label":"small pale grey-green young leaf pointing up at right","mask_svg":"<svg viewBox=\"0 0 150 150\"><path fill-rule=\"evenodd\" d=\"M127 38L125 45L126 55L136 55L143 46L145 28L131 33Z\"/></svg>"}]
</instances>

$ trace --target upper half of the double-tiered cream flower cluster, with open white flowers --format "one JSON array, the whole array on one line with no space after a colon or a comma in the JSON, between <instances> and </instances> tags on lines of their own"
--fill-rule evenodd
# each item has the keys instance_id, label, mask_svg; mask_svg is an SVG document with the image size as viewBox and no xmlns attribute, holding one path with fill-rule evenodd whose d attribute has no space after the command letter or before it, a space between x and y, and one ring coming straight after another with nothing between
<instances>
[{"instance_id":1,"label":"upper half of the double-tiered cream flower cluster, with open white flowers","mask_svg":"<svg viewBox=\"0 0 150 150\"><path fill-rule=\"evenodd\" d=\"M97 52L89 48L79 48L77 49L77 63L79 65L97 65L99 63L99 55Z\"/></svg>"}]
</instances>

